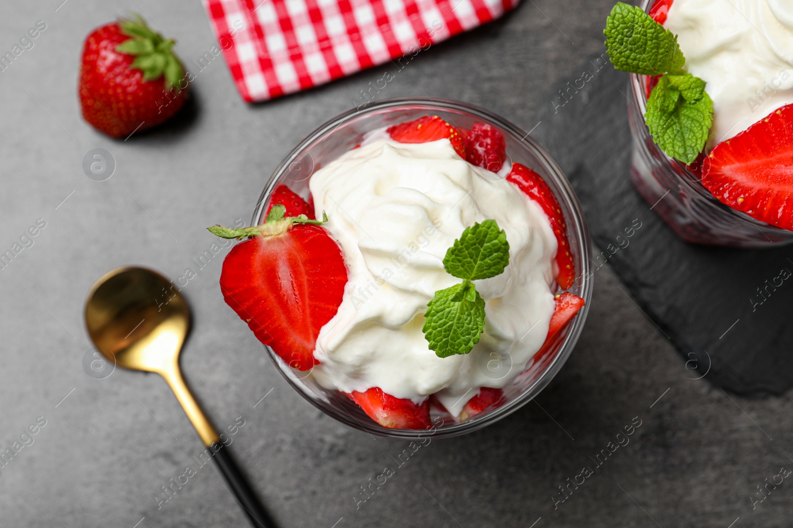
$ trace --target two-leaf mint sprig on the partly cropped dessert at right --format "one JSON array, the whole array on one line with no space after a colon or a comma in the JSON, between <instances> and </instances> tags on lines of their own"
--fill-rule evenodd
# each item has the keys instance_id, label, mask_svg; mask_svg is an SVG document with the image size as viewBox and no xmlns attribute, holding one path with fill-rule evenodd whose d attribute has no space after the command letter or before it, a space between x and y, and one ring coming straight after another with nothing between
<instances>
[{"instance_id":1,"label":"two-leaf mint sprig on the partly cropped dessert at right","mask_svg":"<svg viewBox=\"0 0 793 528\"><path fill-rule=\"evenodd\" d=\"M677 36L642 9L618 2L606 20L606 50L618 70L662 75L650 93L645 120L653 140L684 163L695 161L713 124L705 82L683 70Z\"/></svg>"}]
</instances>

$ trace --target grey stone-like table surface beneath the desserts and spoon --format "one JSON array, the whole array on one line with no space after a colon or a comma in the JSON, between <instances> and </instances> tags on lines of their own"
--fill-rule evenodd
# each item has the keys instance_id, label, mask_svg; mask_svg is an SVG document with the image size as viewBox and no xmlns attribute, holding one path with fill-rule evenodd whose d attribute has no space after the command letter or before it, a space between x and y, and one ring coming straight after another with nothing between
<instances>
[{"instance_id":1,"label":"grey stone-like table surface beneath the desserts and spoon","mask_svg":"<svg viewBox=\"0 0 793 528\"><path fill-rule=\"evenodd\" d=\"M86 374L85 294L120 265L172 278L197 268L193 257L213 242L205 226L247 221L282 156L351 108L384 69L248 105L216 59L197 75L195 104L179 123L113 141L79 115L86 33L137 11L176 36L190 63L214 44L207 17L197 1L61 2L0 6L3 52L36 21L47 24L0 73L0 249L46 222L0 270L0 448L36 420L46 423L0 469L0 524L247 526L209 465L158 507L162 486L197 465L201 443L161 379ZM612 3L525 0L503 20L423 51L378 97L450 97L525 130L542 127L538 109L553 104L546 94L601 49ZM113 154L109 180L82 171L94 148ZM757 493L793 466L790 395L746 399L690 379L608 268L596 276L576 351L536 401L485 430L421 447L357 503L360 486L394 465L406 443L339 424L286 384L224 305L222 256L184 288L195 325L182 367L218 427L244 420L231 449L279 526L790 525L787 481L768 484L762 502ZM632 422L641 425L630 443L595 467L596 454ZM595 467L592 476L556 502L565 498L558 487L580 479L584 466Z\"/></svg>"}]
</instances>

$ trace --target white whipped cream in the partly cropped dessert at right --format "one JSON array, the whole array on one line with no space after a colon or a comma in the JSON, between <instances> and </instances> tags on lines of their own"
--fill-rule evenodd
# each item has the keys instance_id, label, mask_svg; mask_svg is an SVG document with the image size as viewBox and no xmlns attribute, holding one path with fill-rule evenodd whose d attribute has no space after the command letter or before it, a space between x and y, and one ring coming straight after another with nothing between
<instances>
[{"instance_id":1,"label":"white whipped cream in the partly cropped dessert at right","mask_svg":"<svg viewBox=\"0 0 793 528\"><path fill-rule=\"evenodd\" d=\"M675 0L664 27L677 35L685 70L707 82L709 146L793 102L790 0Z\"/></svg>"}]
</instances>

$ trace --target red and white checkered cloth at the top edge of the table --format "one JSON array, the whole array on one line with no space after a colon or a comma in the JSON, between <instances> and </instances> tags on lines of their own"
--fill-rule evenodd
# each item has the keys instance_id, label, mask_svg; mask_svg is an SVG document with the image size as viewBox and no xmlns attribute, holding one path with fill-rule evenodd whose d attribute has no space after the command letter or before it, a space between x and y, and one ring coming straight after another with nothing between
<instances>
[{"instance_id":1,"label":"red and white checkered cloth at the top edge of the table","mask_svg":"<svg viewBox=\"0 0 793 528\"><path fill-rule=\"evenodd\" d=\"M519 2L204 0L245 101L266 101L416 55Z\"/></svg>"}]
</instances>

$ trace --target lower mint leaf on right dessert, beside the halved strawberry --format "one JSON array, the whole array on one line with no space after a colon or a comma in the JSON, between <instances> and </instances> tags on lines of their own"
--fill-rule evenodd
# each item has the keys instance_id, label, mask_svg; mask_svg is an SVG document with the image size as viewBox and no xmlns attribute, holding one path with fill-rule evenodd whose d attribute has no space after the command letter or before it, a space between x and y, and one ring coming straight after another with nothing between
<instances>
[{"instance_id":1,"label":"lower mint leaf on right dessert, beside the halved strawberry","mask_svg":"<svg viewBox=\"0 0 793 528\"><path fill-rule=\"evenodd\" d=\"M705 82L691 74L664 75L650 93L645 120L661 150L684 163L695 161L713 123Z\"/></svg>"}]
</instances>

